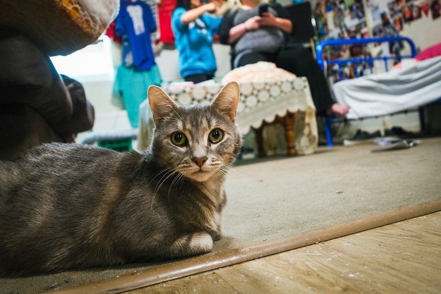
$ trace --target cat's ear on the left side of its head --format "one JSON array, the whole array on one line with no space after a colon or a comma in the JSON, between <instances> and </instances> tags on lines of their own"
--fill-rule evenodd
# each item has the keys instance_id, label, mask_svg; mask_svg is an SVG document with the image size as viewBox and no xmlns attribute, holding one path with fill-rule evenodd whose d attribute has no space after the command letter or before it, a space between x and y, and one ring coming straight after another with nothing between
<instances>
[{"instance_id":1,"label":"cat's ear on the left side of its head","mask_svg":"<svg viewBox=\"0 0 441 294\"><path fill-rule=\"evenodd\" d=\"M147 90L148 104L150 105L153 121L159 125L164 118L174 114L178 105L158 86L152 85Z\"/></svg>"}]
</instances>

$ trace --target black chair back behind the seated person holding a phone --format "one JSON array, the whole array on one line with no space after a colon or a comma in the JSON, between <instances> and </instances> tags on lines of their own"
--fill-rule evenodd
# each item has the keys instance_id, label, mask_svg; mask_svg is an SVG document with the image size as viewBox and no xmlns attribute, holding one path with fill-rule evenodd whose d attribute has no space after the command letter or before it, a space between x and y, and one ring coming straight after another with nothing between
<instances>
[{"instance_id":1,"label":"black chair back behind the seated person holding a phone","mask_svg":"<svg viewBox=\"0 0 441 294\"><path fill-rule=\"evenodd\" d=\"M315 42L317 35L311 2L305 1L300 4L285 6L285 9L291 13L297 23L294 40L302 43L305 48L310 49L314 58L316 58Z\"/></svg>"}]
</instances>

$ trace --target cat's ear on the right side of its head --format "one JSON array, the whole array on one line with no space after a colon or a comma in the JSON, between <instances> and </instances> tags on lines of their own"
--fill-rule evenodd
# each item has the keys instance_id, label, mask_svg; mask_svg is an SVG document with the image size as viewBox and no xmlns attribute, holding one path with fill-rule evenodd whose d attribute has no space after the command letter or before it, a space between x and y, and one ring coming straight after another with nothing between
<instances>
[{"instance_id":1,"label":"cat's ear on the right side of its head","mask_svg":"<svg viewBox=\"0 0 441 294\"><path fill-rule=\"evenodd\" d=\"M239 84L229 82L217 94L212 106L224 112L234 122L236 120L237 104L239 103Z\"/></svg>"}]
</instances>

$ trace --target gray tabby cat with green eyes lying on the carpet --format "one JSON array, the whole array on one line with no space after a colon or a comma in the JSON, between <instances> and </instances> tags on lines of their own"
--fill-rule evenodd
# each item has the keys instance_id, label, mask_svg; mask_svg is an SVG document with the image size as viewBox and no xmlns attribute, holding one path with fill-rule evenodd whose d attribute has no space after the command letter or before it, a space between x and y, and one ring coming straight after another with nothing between
<instances>
[{"instance_id":1,"label":"gray tabby cat with green eyes lying on the carpet","mask_svg":"<svg viewBox=\"0 0 441 294\"><path fill-rule=\"evenodd\" d=\"M46 144L0 162L0 274L157 261L212 250L239 154L239 86L210 105L148 98L148 151Z\"/></svg>"}]
</instances>

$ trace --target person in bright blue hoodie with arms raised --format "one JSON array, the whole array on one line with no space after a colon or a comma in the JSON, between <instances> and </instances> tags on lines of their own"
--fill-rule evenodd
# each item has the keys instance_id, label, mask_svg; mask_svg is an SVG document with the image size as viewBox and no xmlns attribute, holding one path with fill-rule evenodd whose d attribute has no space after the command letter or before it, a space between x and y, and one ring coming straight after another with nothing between
<instances>
[{"instance_id":1,"label":"person in bright blue hoodie with arms raised","mask_svg":"<svg viewBox=\"0 0 441 294\"><path fill-rule=\"evenodd\" d=\"M171 15L174 44L179 52L179 73L185 81L199 83L213 78L217 70L213 36L222 17L216 2L178 0Z\"/></svg>"}]
</instances>

